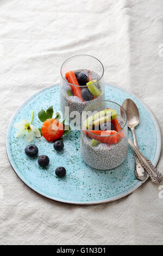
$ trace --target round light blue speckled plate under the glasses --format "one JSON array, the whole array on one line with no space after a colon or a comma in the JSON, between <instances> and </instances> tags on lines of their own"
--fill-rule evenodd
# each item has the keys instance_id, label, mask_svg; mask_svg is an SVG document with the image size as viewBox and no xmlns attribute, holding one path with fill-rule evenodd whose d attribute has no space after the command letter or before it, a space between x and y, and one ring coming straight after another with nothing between
<instances>
[{"instance_id":1,"label":"round light blue speckled plate under the glasses","mask_svg":"<svg viewBox=\"0 0 163 256\"><path fill-rule=\"evenodd\" d=\"M106 100L112 100L120 105L124 99L133 99L140 111L140 124L136 128L137 141L142 153L154 164L159 160L161 136L159 126L149 109L135 95L124 90L106 85ZM80 157L80 132L71 131L64 137L65 149L57 153L53 143L48 143L43 137L32 142L39 148L39 155L49 156L50 164L41 168L37 157L30 159L24 153L28 144L25 137L15 138L14 123L26 118L30 120L34 111L33 125L41 127L37 113L41 108L47 109L53 105L54 111L59 111L59 86L41 90L23 103L12 118L7 132L7 154L12 168L17 175L34 191L48 198L72 204L98 204L120 199L141 186L142 182L135 178L134 154L129 147L128 157L121 166L100 171L87 166ZM129 131L129 137L131 133ZM67 174L64 178L55 175L55 168L64 166Z\"/></svg>"}]
</instances>

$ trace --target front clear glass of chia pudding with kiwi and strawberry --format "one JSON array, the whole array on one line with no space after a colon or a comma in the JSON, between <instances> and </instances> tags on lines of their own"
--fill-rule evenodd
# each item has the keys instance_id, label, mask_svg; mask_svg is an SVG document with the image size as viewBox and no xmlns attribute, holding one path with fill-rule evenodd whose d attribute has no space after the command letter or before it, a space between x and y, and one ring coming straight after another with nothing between
<instances>
[{"instance_id":1,"label":"front clear glass of chia pudding with kiwi and strawberry","mask_svg":"<svg viewBox=\"0 0 163 256\"><path fill-rule=\"evenodd\" d=\"M127 115L112 101L98 101L85 108L80 133L80 154L91 167L109 170L128 153Z\"/></svg>"}]
</instances>

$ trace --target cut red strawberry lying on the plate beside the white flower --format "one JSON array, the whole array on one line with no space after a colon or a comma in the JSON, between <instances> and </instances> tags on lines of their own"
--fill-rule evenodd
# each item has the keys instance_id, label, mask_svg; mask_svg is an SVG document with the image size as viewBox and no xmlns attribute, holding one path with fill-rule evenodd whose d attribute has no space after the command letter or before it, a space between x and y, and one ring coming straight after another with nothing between
<instances>
[{"instance_id":1,"label":"cut red strawberry lying on the plate beside the white flower","mask_svg":"<svg viewBox=\"0 0 163 256\"><path fill-rule=\"evenodd\" d=\"M47 141L60 139L64 134L64 130L64 125L54 118L47 119L41 128L42 136L46 138Z\"/></svg>"}]
</instances>

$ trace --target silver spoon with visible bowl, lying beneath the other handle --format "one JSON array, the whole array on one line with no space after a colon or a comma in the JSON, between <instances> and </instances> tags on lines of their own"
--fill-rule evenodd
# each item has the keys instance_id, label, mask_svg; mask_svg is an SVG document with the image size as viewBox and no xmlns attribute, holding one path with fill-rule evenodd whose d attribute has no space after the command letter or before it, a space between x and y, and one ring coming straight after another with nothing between
<instances>
[{"instance_id":1,"label":"silver spoon with visible bowl, lying beneath the other handle","mask_svg":"<svg viewBox=\"0 0 163 256\"><path fill-rule=\"evenodd\" d=\"M137 149L139 149L136 135L135 135L135 126L139 124L139 119L140 119L139 110L136 104L134 103L134 101L131 99L124 100L122 103L122 107L127 113L128 127L131 129L131 132L133 134L134 145ZM147 179L147 172L141 166L141 163L136 155L135 155L135 176L139 180Z\"/></svg>"}]
</instances>

